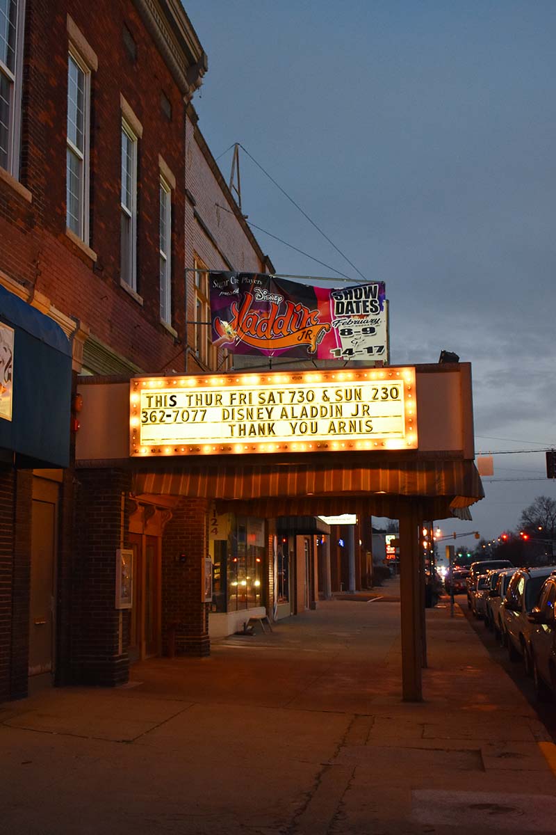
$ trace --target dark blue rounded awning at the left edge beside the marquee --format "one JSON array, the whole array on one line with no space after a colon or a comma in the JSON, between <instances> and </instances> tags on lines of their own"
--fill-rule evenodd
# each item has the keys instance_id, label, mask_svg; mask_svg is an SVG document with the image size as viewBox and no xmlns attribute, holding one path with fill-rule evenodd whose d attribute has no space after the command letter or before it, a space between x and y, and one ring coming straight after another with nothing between
<instances>
[{"instance_id":1,"label":"dark blue rounded awning at the left edge beside the marquee","mask_svg":"<svg viewBox=\"0 0 556 835\"><path fill-rule=\"evenodd\" d=\"M2 285L0 322L13 329L12 416L0 415L1 457L21 468L67 467L72 392L68 337L53 319Z\"/></svg>"}]
</instances>

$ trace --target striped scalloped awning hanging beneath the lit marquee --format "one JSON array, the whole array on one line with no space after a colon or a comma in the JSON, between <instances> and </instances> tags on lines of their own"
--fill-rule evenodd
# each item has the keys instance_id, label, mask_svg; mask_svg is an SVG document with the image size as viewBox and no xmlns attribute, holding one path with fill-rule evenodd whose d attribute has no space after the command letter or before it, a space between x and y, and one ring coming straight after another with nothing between
<instances>
[{"instance_id":1,"label":"striped scalloped awning hanging beneath the lit marquee","mask_svg":"<svg viewBox=\"0 0 556 835\"><path fill-rule=\"evenodd\" d=\"M135 473L133 493L218 500L222 509L268 517L356 512L388 515L400 498L421 498L443 519L483 498L473 461L407 460L380 466L274 463L165 468ZM388 512L384 512L388 510ZM392 514L393 518L395 514Z\"/></svg>"}]
</instances>

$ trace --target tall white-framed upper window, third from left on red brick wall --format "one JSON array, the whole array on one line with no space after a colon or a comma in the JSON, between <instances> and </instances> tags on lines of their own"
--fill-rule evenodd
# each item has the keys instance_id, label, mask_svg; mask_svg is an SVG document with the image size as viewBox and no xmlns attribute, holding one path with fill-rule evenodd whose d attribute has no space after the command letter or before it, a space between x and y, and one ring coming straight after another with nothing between
<instances>
[{"instance_id":1,"label":"tall white-framed upper window, third from left on red brick wall","mask_svg":"<svg viewBox=\"0 0 556 835\"><path fill-rule=\"evenodd\" d=\"M138 138L123 120L120 276L134 291L137 291L137 152Z\"/></svg>"}]
</instances>

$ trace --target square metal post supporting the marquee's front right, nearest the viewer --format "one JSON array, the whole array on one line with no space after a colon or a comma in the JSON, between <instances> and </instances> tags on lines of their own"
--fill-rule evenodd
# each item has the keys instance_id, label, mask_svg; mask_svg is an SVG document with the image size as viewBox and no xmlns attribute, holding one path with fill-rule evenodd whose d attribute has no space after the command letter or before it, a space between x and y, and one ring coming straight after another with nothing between
<instances>
[{"instance_id":1,"label":"square metal post supporting the marquee's front right, nearest the viewer","mask_svg":"<svg viewBox=\"0 0 556 835\"><path fill-rule=\"evenodd\" d=\"M417 504L405 504L399 519L403 701L423 701L423 598L421 519Z\"/></svg>"}]
</instances>

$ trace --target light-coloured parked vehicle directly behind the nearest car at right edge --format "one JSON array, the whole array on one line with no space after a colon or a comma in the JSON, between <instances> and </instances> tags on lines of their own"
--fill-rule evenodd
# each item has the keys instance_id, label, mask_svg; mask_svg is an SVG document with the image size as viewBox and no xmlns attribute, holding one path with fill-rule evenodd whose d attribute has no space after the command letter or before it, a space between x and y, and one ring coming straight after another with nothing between
<instances>
[{"instance_id":1,"label":"light-coloured parked vehicle directly behind the nearest car at right edge","mask_svg":"<svg viewBox=\"0 0 556 835\"><path fill-rule=\"evenodd\" d=\"M544 580L556 571L556 565L543 565L537 569L518 569L508 585L503 600L503 630L508 645L509 659L523 658L525 671L531 675L531 649L529 638L533 629L528 615L537 605L538 593Z\"/></svg>"}]
</instances>

